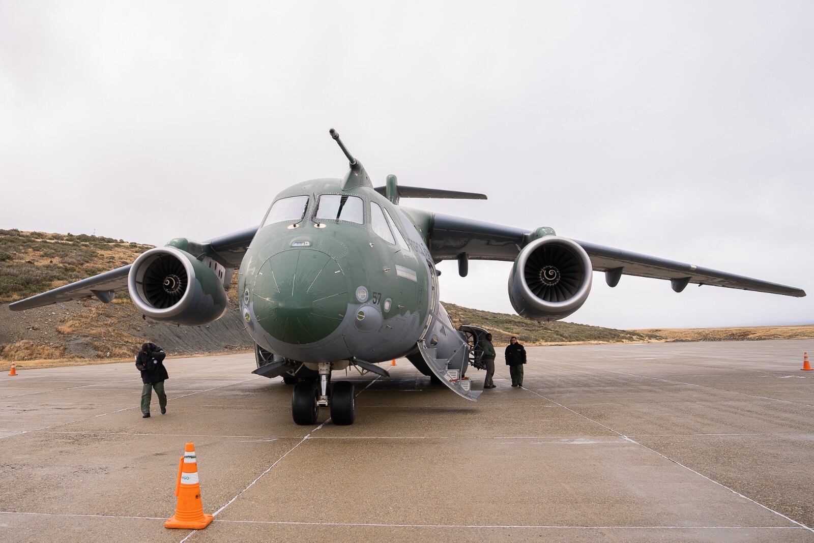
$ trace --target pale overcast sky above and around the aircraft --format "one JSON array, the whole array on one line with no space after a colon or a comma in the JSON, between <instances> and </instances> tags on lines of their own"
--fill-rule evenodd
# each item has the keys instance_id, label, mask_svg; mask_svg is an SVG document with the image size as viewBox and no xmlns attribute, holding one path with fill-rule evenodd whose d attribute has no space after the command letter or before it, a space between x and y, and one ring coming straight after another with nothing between
<instances>
[{"instance_id":1,"label":"pale overcast sky above and around the aircraft","mask_svg":"<svg viewBox=\"0 0 814 543\"><path fill-rule=\"evenodd\" d=\"M163 245L347 169L408 206L806 289L594 274L568 320L814 322L812 2L0 0L0 228ZM441 298L512 312L510 263Z\"/></svg>"}]
</instances>

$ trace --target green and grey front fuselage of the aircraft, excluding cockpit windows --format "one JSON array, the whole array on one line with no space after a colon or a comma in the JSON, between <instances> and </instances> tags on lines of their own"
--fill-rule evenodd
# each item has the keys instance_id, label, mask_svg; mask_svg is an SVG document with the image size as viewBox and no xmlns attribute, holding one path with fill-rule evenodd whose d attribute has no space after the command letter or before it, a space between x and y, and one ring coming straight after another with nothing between
<instances>
[{"instance_id":1,"label":"green and grey front fuselage of the aircraft, excluding cockpit windows","mask_svg":"<svg viewBox=\"0 0 814 543\"><path fill-rule=\"evenodd\" d=\"M307 196L304 216L260 228L240 266L247 331L284 358L377 363L403 356L415 350L438 302L425 241L429 215L405 212L370 186L343 190L343 183L310 180L279 193L275 202ZM322 194L361 198L364 224L315 219ZM371 201L389 212L409 248L374 233Z\"/></svg>"}]
</instances>

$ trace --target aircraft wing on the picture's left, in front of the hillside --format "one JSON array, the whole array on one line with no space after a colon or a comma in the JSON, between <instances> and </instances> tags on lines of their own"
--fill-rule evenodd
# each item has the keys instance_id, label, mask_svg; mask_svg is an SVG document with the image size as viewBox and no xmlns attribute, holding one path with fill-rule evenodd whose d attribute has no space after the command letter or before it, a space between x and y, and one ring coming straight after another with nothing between
<instances>
[{"instance_id":1,"label":"aircraft wing on the picture's left, in front of the hillside","mask_svg":"<svg viewBox=\"0 0 814 543\"><path fill-rule=\"evenodd\" d=\"M238 267L256 232L256 227L247 228L225 236L213 237L211 240L202 243L190 242L190 251L194 251L195 256L198 258L208 255L227 267ZM50 306L53 303L92 298L94 296L102 302L108 303L112 301L116 291L127 289L129 272L130 264L117 267L110 272L103 272L97 276L78 280L69 285L50 289L47 292L25 298L19 302L12 302L8 307L11 311L23 311L33 307Z\"/></svg>"}]
</instances>

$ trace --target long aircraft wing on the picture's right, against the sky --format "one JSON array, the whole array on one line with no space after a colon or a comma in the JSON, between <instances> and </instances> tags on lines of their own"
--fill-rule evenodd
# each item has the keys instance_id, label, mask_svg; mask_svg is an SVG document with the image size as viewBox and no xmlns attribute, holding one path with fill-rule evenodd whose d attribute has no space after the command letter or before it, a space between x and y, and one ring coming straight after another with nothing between
<instances>
[{"instance_id":1,"label":"long aircraft wing on the picture's right, against the sky","mask_svg":"<svg viewBox=\"0 0 814 543\"><path fill-rule=\"evenodd\" d=\"M466 253L473 259L513 261L523 246L537 236L536 231L436 213L431 219L429 237L429 249L435 260L454 259L458 254ZM681 292L687 284L693 283L784 296L806 295L803 289L795 287L719 272L666 258L632 253L587 241L574 241L588 253L595 271L606 272L608 285L612 286L619 280L619 275L626 275L670 280L672 288L677 292Z\"/></svg>"}]
</instances>

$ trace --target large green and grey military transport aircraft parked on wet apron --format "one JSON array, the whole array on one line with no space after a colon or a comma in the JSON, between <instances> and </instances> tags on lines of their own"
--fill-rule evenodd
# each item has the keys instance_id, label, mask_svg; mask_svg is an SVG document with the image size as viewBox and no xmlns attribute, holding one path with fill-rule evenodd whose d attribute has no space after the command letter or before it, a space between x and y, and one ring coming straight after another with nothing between
<instances>
[{"instance_id":1,"label":"large green and grey military transport aircraft parked on wet apron","mask_svg":"<svg viewBox=\"0 0 814 543\"><path fill-rule=\"evenodd\" d=\"M342 179L309 180L274 198L260 222L208 241L175 238L129 266L37 294L9 307L21 311L95 297L111 302L129 290L143 315L200 326L220 318L226 289L239 269L239 309L255 341L258 375L295 384L296 424L314 424L321 406L335 424L352 424L353 384L331 372L406 356L418 371L475 400L466 367L477 363L483 330L453 328L439 302L435 264L456 259L466 276L470 258L514 261L509 298L528 319L571 315L588 298L592 270L615 287L623 275L805 296L801 289L691 264L559 237L552 228L524 230L400 206L400 198L486 199L478 193L398 185L374 187L348 157Z\"/></svg>"}]
</instances>

